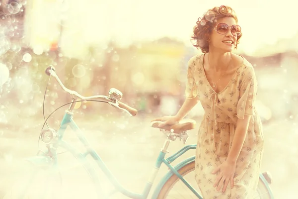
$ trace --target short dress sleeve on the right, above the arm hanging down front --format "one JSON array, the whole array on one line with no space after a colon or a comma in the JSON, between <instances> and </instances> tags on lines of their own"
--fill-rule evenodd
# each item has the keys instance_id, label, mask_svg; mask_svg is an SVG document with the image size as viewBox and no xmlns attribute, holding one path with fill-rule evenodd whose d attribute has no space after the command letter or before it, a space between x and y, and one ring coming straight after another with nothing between
<instances>
[{"instance_id":1,"label":"short dress sleeve on the right, above the arm hanging down front","mask_svg":"<svg viewBox=\"0 0 298 199\"><path fill-rule=\"evenodd\" d=\"M247 66L239 81L239 100L237 103L237 117L244 119L244 115L254 115L254 101L257 96L257 79L252 66Z\"/></svg>"}]
</instances>

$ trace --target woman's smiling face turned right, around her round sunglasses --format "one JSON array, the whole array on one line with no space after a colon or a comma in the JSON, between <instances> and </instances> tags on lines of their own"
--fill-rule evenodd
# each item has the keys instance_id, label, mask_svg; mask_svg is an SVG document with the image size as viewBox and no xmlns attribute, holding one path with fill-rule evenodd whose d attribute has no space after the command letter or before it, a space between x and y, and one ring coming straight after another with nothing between
<instances>
[{"instance_id":1,"label":"woman's smiling face turned right, around her round sunglasses","mask_svg":"<svg viewBox=\"0 0 298 199\"><path fill-rule=\"evenodd\" d=\"M217 31L217 25L220 23L225 23L228 25L228 31L226 31L224 34L220 34L223 32L219 33ZM221 51L223 53L231 52L235 48L236 41L237 41L237 36L233 34L235 34L235 31L238 31L238 29L237 29L237 26L232 26L236 24L237 24L236 20L233 17L224 17L224 18L218 19L210 35L209 49ZM233 34L232 34L232 31L233 31Z\"/></svg>"}]
</instances>

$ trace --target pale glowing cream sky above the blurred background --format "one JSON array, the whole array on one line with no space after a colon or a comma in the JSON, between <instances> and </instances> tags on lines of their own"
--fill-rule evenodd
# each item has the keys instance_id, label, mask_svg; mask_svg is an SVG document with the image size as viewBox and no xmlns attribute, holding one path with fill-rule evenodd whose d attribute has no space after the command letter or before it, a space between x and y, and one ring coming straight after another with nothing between
<instances>
[{"instance_id":1,"label":"pale glowing cream sky above the blurred background","mask_svg":"<svg viewBox=\"0 0 298 199\"><path fill-rule=\"evenodd\" d=\"M61 1L33 0L33 40L37 36L34 32L41 35L37 29L42 26L44 34L53 37L54 24L51 26L46 21L49 18L53 21L53 10L56 13L67 10L70 23L64 29L66 46L73 47L74 41L83 45L109 37L127 45L132 41L162 36L177 38L190 45L197 18L207 9L222 4L235 10L243 32L239 48L246 52L298 33L298 26L293 23L298 3L293 0L283 0L283 3L272 0L247 0L245 3L241 0L65 0L63 6ZM51 8L50 4L55 2Z\"/></svg>"}]
</instances>

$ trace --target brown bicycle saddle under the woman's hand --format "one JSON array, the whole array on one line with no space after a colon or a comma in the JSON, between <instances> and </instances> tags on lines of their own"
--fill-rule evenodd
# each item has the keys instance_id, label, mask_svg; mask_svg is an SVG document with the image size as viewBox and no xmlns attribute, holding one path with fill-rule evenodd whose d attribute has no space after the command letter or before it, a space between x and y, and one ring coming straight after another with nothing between
<instances>
[{"instance_id":1,"label":"brown bicycle saddle under the woman's hand","mask_svg":"<svg viewBox=\"0 0 298 199\"><path fill-rule=\"evenodd\" d=\"M162 121L152 121L151 127L153 128L160 128L163 130L171 131L173 133L181 133L186 130L191 130L196 127L196 121L193 119L182 119L181 121L177 122L176 124L172 125L165 125L159 127L158 124Z\"/></svg>"}]
</instances>

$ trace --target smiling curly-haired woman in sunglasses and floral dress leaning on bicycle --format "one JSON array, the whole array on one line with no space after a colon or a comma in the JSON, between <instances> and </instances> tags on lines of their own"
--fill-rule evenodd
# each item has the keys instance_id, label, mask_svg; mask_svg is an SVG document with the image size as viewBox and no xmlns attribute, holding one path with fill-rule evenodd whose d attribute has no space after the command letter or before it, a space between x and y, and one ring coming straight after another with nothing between
<instances>
[{"instance_id":1,"label":"smiling curly-haired woman in sunglasses and floral dress leaning on bicycle","mask_svg":"<svg viewBox=\"0 0 298 199\"><path fill-rule=\"evenodd\" d=\"M214 7L193 29L195 47L204 53L188 62L186 100L175 116L154 120L179 122L201 102L205 115L196 150L195 179L204 199L249 199L256 192L263 132L254 103L257 80L252 65L231 53L241 28L228 6Z\"/></svg>"}]
</instances>

